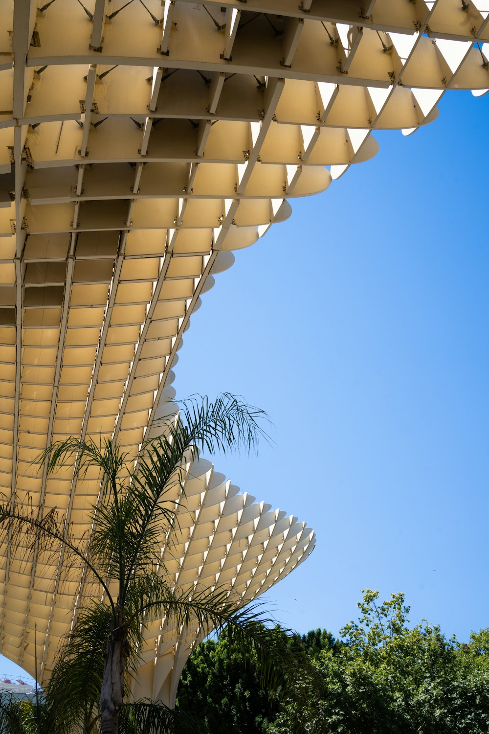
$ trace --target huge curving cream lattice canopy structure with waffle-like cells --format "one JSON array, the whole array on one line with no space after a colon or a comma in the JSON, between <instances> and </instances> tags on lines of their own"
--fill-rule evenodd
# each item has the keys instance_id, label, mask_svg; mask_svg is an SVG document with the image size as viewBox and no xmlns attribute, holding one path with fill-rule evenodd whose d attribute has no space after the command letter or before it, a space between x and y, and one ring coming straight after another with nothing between
<instances>
[{"instance_id":1,"label":"huge curving cream lattice canopy structure with waffle-like cells","mask_svg":"<svg viewBox=\"0 0 489 734\"><path fill-rule=\"evenodd\" d=\"M70 435L136 457L232 251L374 156L376 129L411 134L446 90L488 90L489 4L0 0L0 14L0 489L81 536L97 477L32 461ZM175 584L246 603L312 551L304 523L203 459L186 497ZM46 679L83 581L61 585L36 553L1 549L1 652L34 673L37 624ZM196 638L153 625L134 693L171 703Z\"/></svg>"}]
</instances>

